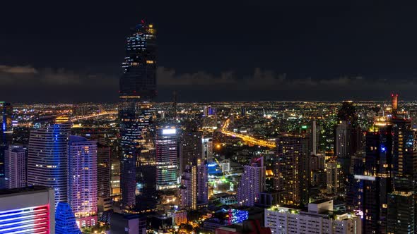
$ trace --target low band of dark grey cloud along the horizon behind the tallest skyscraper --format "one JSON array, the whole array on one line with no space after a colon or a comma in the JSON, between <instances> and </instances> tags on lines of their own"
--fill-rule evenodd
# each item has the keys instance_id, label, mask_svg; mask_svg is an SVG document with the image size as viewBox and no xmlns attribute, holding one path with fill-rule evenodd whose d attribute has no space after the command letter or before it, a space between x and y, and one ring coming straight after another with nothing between
<instances>
[{"instance_id":1,"label":"low band of dark grey cloud along the horizon behind the tallest skyscraper","mask_svg":"<svg viewBox=\"0 0 417 234\"><path fill-rule=\"evenodd\" d=\"M250 101L385 99L392 91L413 99L417 90L416 78L293 78L262 68L239 75L233 70L178 73L159 67L157 76L158 101L170 100L174 91L180 101ZM118 80L117 75L64 68L0 65L1 98L10 101L117 101Z\"/></svg>"}]
</instances>

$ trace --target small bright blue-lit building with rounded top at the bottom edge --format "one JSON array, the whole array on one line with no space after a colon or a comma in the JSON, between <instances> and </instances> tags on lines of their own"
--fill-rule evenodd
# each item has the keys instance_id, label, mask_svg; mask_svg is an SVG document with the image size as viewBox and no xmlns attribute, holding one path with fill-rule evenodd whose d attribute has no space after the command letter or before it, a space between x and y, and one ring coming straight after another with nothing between
<instances>
[{"instance_id":1,"label":"small bright blue-lit building with rounded top at the bottom edge","mask_svg":"<svg viewBox=\"0 0 417 234\"><path fill-rule=\"evenodd\" d=\"M56 234L81 234L76 223L76 217L66 202L58 202L55 211Z\"/></svg>"}]
</instances>

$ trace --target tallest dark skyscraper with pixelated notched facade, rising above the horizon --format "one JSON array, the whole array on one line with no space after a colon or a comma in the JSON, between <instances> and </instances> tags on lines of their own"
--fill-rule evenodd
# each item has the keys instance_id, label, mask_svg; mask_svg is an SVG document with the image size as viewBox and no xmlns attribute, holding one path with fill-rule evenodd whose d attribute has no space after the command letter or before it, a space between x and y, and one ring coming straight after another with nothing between
<instances>
[{"instance_id":1,"label":"tallest dark skyscraper with pixelated notched facade, rising above the horizon","mask_svg":"<svg viewBox=\"0 0 417 234\"><path fill-rule=\"evenodd\" d=\"M156 95L156 31L143 20L127 37L124 68L119 80L121 190L126 208L136 204L136 162L144 152L142 133L150 125L146 107ZM141 160L139 160L140 162ZM139 163L140 164L140 163ZM140 165L139 165L140 166Z\"/></svg>"}]
</instances>

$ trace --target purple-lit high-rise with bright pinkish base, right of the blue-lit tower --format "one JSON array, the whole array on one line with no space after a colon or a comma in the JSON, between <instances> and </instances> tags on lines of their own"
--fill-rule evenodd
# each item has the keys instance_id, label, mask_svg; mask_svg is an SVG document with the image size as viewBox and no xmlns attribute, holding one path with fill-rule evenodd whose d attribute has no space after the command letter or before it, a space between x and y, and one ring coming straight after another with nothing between
<instances>
[{"instance_id":1,"label":"purple-lit high-rise with bright pinkish base, right of the blue-lit tower","mask_svg":"<svg viewBox=\"0 0 417 234\"><path fill-rule=\"evenodd\" d=\"M78 228L97 223L97 142L69 137L68 204Z\"/></svg>"}]
</instances>

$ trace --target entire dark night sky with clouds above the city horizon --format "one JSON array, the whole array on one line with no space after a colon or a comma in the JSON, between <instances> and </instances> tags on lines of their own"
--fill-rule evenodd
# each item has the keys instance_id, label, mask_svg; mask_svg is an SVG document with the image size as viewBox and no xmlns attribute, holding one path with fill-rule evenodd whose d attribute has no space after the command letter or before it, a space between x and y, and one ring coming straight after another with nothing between
<instances>
[{"instance_id":1,"label":"entire dark night sky with clouds above the city horizon","mask_svg":"<svg viewBox=\"0 0 417 234\"><path fill-rule=\"evenodd\" d=\"M0 100L117 101L142 19L158 101L417 99L417 3L279 2L2 2Z\"/></svg>"}]
</instances>

